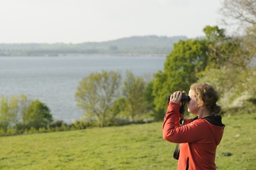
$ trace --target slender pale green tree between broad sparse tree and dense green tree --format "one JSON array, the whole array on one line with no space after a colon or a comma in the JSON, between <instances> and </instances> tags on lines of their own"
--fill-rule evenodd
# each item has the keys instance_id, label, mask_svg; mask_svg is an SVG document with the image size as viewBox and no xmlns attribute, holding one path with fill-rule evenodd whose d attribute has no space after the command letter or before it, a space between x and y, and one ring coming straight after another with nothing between
<instances>
[{"instance_id":1,"label":"slender pale green tree between broad sparse tree and dense green tree","mask_svg":"<svg viewBox=\"0 0 256 170\"><path fill-rule=\"evenodd\" d=\"M137 116L145 113L143 105L145 81L143 77L135 77L131 71L127 70L123 83L123 95L126 101L125 115L130 117L132 122L135 122Z\"/></svg>"}]
</instances>

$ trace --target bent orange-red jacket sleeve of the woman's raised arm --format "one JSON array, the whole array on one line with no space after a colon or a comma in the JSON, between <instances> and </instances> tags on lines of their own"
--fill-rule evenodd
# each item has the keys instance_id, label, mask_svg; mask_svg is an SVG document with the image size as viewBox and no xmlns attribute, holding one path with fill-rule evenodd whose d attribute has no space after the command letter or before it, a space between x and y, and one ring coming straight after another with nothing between
<instances>
[{"instance_id":1,"label":"bent orange-red jacket sleeve of the woman's raised arm","mask_svg":"<svg viewBox=\"0 0 256 170\"><path fill-rule=\"evenodd\" d=\"M170 102L163 123L163 139L172 143L190 143L203 138L210 128L202 118L191 122L186 120L186 125L179 126L180 105ZM178 126L177 126L178 123Z\"/></svg>"}]
</instances>

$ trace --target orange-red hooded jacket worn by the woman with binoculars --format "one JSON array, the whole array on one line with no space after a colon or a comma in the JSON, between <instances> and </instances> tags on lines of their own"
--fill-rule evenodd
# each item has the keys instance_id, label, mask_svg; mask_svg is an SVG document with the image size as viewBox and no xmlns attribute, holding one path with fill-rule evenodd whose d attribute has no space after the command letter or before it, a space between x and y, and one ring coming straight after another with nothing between
<instances>
[{"instance_id":1,"label":"orange-red hooded jacket worn by the woman with binoculars","mask_svg":"<svg viewBox=\"0 0 256 170\"><path fill-rule=\"evenodd\" d=\"M163 123L163 139L180 143L178 170L216 169L215 153L223 136L225 125L213 125L204 118L186 119L179 126L180 105L170 102Z\"/></svg>"}]
</instances>

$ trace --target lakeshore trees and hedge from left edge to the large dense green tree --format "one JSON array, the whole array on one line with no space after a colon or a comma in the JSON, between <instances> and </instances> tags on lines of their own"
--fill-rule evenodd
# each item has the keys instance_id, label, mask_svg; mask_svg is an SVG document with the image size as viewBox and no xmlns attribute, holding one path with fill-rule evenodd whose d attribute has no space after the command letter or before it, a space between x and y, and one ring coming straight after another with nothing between
<instances>
[{"instance_id":1,"label":"lakeshore trees and hedge from left edge to the large dense green tree","mask_svg":"<svg viewBox=\"0 0 256 170\"><path fill-rule=\"evenodd\" d=\"M54 120L50 109L38 99L23 94L0 101L0 136L35 132L68 131L93 126L113 126L152 121L140 117L147 113L144 101L145 81L127 70L122 82L120 72L102 71L84 77L75 94L77 106L85 116L71 124Z\"/></svg>"}]
</instances>

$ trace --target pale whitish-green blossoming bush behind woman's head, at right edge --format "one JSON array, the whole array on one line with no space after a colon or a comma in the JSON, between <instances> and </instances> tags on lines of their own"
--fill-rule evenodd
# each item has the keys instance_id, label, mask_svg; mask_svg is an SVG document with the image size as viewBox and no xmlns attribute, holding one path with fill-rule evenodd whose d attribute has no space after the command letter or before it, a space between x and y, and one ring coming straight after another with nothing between
<instances>
[{"instance_id":1,"label":"pale whitish-green blossoming bush behind woman's head, at right edge","mask_svg":"<svg viewBox=\"0 0 256 170\"><path fill-rule=\"evenodd\" d=\"M254 113L256 109L256 70L246 68L210 69L199 78L208 82L220 93L222 114Z\"/></svg>"}]
</instances>

